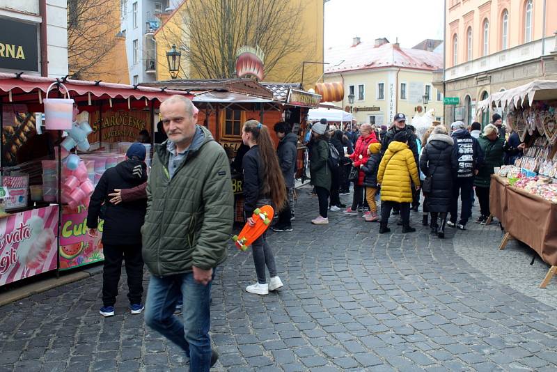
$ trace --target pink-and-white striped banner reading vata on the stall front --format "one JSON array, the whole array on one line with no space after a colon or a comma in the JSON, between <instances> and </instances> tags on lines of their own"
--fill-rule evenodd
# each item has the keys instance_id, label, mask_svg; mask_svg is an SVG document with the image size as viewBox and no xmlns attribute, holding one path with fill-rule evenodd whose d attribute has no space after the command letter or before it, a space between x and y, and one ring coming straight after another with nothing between
<instances>
[{"instance_id":1,"label":"pink-and-white striped banner reading vata on the stall front","mask_svg":"<svg viewBox=\"0 0 557 372\"><path fill-rule=\"evenodd\" d=\"M0 219L0 286L54 270L58 206Z\"/></svg>"}]
</instances>

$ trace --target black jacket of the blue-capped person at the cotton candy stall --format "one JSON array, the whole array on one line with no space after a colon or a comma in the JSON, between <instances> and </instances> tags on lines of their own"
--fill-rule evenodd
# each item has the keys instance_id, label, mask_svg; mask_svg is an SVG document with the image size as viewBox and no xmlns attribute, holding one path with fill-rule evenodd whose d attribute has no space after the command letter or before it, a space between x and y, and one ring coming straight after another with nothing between
<instances>
[{"instance_id":1,"label":"black jacket of the blue-capped person at the cotton candy stall","mask_svg":"<svg viewBox=\"0 0 557 372\"><path fill-rule=\"evenodd\" d=\"M107 169L91 195L87 227L97 228L100 208L104 203L102 242L107 245L141 245L141 226L145 222L147 200L139 199L120 204L110 202L114 189L131 189L145 183L147 166L139 160L126 160Z\"/></svg>"}]
</instances>

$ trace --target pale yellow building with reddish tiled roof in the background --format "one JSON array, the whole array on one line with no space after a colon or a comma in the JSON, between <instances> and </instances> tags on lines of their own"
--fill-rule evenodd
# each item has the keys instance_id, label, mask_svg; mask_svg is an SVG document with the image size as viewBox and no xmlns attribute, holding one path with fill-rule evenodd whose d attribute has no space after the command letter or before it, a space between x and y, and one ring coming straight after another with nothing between
<instances>
[{"instance_id":1,"label":"pale yellow building with reddish tiled roof in the background","mask_svg":"<svg viewBox=\"0 0 557 372\"><path fill-rule=\"evenodd\" d=\"M442 92L433 88L434 70L443 68L439 40L425 40L414 48L401 48L385 38L362 42L354 38L352 45L325 50L325 82L342 82L344 100L337 106L352 112L358 123L377 126L393 121L396 113L408 118L424 108L434 109L435 117L443 116ZM354 95L354 103L349 102ZM424 107L423 95L427 95Z\"/></svg>"}]
</instances>

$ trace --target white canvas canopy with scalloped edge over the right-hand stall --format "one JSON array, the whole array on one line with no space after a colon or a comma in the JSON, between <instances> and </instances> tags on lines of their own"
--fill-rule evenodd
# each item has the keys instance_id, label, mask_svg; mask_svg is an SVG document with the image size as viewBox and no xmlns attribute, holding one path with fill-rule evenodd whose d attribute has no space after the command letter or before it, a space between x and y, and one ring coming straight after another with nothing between
<instances>
[{"instance_id":1,"label":"white canvas canopy with scalloped edge over the right-hand stall","mask_svg":"<svg viewBox=\"0 0 557 372\"><path fill-rule=\"evenodd\" d=\"M531 83L517 86L489 95L483 101L478 102L478 111L485 111L489 107L517 107L518 105L528 102L531 104L534 100L556 100L557 99L557 81L554 80L535 80Z\"/></svg>"}]
</instances>

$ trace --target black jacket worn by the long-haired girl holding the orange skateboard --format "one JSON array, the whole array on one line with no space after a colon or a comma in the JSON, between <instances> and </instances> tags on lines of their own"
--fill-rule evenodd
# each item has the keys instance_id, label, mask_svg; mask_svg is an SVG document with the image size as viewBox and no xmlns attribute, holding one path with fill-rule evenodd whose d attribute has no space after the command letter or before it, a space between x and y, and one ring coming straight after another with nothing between
<instances>
[{"instance_id":1,"label":"black jacket worn by the long-haired girl holding the orange skateboard","mask_svg":"<svg viewBox=\"0 0 557 372\"><path fill-rule=\"evenodd\" d=\"M257 207L257 201L268 197L265 195L263 185L263 172L259 146L251 146L242 160L244 169L244 212L246 217L251 217Z\"/></svg>"}]
</instances>

